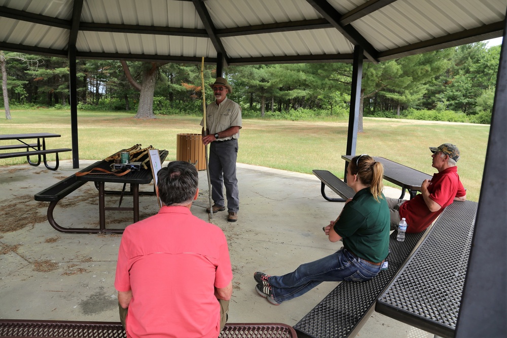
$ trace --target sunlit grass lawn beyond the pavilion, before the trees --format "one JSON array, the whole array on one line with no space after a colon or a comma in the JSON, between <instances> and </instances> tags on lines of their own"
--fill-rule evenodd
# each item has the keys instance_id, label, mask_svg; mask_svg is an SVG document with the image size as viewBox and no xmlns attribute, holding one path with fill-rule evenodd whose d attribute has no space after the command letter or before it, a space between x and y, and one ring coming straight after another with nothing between
<instances>
[{"instance_id":1,"label":"sunlit grass lawn beyond the pavilion, before the trees","mask_svg":"<svg viewBox=\"0 0 507 338\"><path fill-rule=\"evenodd\" d=\"M71 147L70 112L66 110L11 110L2 120L0 134L48 132L48 148ZM124 112L78 112L79 158L100 160L136 143L167 149L176 159L179 133L200 133L200 118L159 116L136 120ZM239 141L238 162L311 174L326 169L343 178L347 120L304 122L245 119ZM357 137L356 154L382 156L432 174L429 146L454 143L461 152L458 172L467 198L478 201L489 126L426 121L365 118L364 133ZM13 144L4 141L3 144ZM71 159L71 152L59 158ZM54 155L49 156L54 160ZM0 166L26 163L26 158L0 160ZM390 184L385 182L386 184Z\"/></svg>"}]
</instances>

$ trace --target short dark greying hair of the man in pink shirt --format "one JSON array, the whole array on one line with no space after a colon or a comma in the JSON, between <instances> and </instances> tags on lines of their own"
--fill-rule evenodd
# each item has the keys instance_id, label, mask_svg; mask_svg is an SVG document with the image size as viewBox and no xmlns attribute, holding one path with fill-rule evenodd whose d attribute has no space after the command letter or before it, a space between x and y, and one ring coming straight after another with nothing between
<instances>
[{"instance_id":1,"label":"short dark greying hair of the man in pink shirt","mask_svg":"<svg viewBox=\"0 0 507 338\"><path fill-rule=\"evenodd\" d=\"M159 196L165 205L187 205L194 200L199 183L195 166L188 162L172 161L159 170Z\"/></svg>"}]
</instances>

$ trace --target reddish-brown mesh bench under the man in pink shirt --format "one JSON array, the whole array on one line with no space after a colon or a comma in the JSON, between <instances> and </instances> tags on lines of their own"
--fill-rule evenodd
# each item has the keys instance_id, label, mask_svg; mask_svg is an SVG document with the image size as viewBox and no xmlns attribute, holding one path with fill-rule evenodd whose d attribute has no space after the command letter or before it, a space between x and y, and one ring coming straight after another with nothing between
<instances>
[{"instance_id":1,"label":"reddish-brown mesh bench under the man in pink shirt","mask_svg":"<svg viewBox=\"0 0 507 338\"><path fill-rule=\"evenodd\" d=\"M0 319L2 337L124 338L120 322ZM219 338L297 338L281 323L227 323Z\"/></svg>"}]
</instances>

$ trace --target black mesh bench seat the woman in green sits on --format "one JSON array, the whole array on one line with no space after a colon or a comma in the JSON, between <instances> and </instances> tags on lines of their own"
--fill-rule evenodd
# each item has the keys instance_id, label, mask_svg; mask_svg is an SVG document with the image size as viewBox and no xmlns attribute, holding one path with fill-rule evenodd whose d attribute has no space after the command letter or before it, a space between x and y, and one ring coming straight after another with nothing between
<instances>
[{"instance_id":1,"label":"black mesh bench seat the woman in green sits on","mask_svg":"<svg viewBox=\"0 0 507 338\"><path fill-rule=\"evenodd\" d=\"M354 335L361 319L373 311L375 299L389 284L424 233L406 234L404 242L389 237L388 268L367 282L341 282L294 328L299 337L347 337Z\"/></svg>"}]
</instances>

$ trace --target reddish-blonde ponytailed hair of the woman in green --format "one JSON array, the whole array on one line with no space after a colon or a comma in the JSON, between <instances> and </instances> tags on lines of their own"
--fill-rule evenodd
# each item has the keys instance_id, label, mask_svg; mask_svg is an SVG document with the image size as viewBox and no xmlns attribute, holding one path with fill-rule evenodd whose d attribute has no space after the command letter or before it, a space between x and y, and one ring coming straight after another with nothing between
<instances>
[{"instance_id":1,"label":"reddish-blonde ponytailed hair of the woman in green","mask_svg":"<svg viewBox=\"0 0 507 338\"><path fill-rule=\"evenodd\" d=\"M384 184L384 166L380 162L375 162L371 156L360 155L356 156L349 163L350 172L357 175L359 180L370 186L370 193L372 193L375 200L378 202L379 197L382 198L382 190Z\"/></svg>"}]
</instances>

